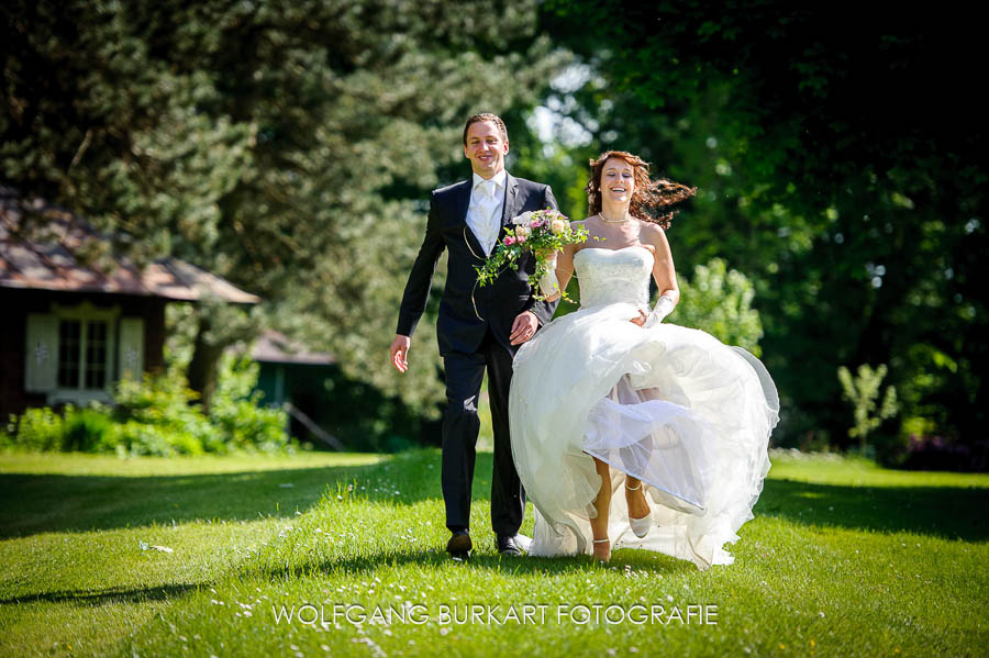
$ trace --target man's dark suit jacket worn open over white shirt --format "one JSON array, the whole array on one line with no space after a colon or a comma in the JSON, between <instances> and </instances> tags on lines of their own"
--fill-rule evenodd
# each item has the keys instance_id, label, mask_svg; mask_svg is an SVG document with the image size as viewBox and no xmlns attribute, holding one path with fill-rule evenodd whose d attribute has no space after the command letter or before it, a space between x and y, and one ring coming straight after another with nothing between
<instances>
[{"instance_id":1,"label":"man's dark suit jacket worn open over white shirt","mask_svg":"<svg viewBox=\"0 0 989 658\"><path fill-rule=\"evenodd\" d=\"M545 325L553 319L557 302L533 299L529 285L529 275L535 271L532 254L522 257L518 271L507 268L493 283L484 288L477 285L474 268L484 264L485 252L467 225L471 180L433 190L430 196L425 239L405 283L397 333L411 336L415 331L430 295L436 263L443 249L447 249L446 288L436 323L440 354L475 352L489 326L494 338L514 354L518 346L509 344L509 335L515 316L532 311L540 324ZM511 227L512 218L532 210L557 209L549 186L508 174L504 187L499 242L504 237L504 228Z\"/></svg>"}]
</instances>

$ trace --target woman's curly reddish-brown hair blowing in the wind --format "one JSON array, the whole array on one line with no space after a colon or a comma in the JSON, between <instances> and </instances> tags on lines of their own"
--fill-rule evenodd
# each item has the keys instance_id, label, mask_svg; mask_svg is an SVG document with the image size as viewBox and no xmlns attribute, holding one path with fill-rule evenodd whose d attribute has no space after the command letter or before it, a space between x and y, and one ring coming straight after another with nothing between
<instances>
[{"instance_id":1,"label":"woman's curly reddish-brown hair blowing in the wind","mask_svg":"<svg viewBox=\"0 0 989 658\"><path fill-rule=\"evenodd\" d=\"M665 178L649 179L649 164L626 150L607 150L590 161L591 175L584 188L587 192L587 216L601 212L601 171L608 158L620 158L632 166L635 172L635 190L629 212L633 218L654 222L663 228L669 228L669 222L677 214L673 207L686 201L697 193L690 188Z\"/></svg>"}]
</instances>

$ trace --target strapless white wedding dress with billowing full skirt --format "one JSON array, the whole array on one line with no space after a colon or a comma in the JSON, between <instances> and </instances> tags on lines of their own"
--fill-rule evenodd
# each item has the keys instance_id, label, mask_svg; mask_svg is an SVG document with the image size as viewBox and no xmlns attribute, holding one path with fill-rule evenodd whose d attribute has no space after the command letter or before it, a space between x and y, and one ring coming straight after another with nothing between
<instances>
[{"instance_id":1,"label":"strapless white wedding dress with billowing full skirt","mask_svg":"<svg viewBox=\"0 0 989 658\"><path fill-rule=\"evenodd\" d=\"M611 465L613 548L658 550L700 569L731 564L769 470L779 399L754 356L675 324L643 328L653 255L645 247L580 249L580 309L551 322L515 355L512 454L535 506L530 555L590 554L589 518ZM653 510L644 538L629 524L625 473Z\"/></svg>"}]
</instances>

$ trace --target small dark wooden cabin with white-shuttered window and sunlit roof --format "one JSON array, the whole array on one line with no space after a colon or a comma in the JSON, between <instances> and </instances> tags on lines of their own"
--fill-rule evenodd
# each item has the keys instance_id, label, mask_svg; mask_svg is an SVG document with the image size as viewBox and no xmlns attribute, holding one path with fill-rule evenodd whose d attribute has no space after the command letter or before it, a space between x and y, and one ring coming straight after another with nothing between
<instances>
[{"instance_id":1,"label":"small dark wooden cabin with white-shuttered window and sunlit roof","mask_svg":"<svg viewBox=\"0 0 989 658\"><path fill-rule=\"evenodd\" d=\"M177 258L137 268L63 209L38 200L29 211L30 225L0 187L3 421L29 406L109 402L121 378L163 368L168 302L259 301Z\"/></svg>"}]
</instances>

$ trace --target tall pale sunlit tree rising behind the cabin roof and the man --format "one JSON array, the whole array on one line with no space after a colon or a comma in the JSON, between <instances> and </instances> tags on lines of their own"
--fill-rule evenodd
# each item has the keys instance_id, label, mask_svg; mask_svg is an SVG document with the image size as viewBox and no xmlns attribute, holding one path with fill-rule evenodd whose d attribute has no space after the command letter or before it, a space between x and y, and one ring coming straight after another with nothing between
<instances>
[{"instance_id":1,"label":"tall pale sunlit tree rising behind the cabin roof and the man","mask_svg":"<svg viewBox=\"0 0 989 658\"><path fill-rule=\"evenodd\" d=\"M399 298L427 191L463 171L464 119L532 104L565 59L534 0L0 12L4 180L125 232L138 258L174 254L260 294L269 323L432 410L433 323L410 373L388 369ZM201 320L207 360L232 339L222 324Z\"/></svg>"}]
</instances>

